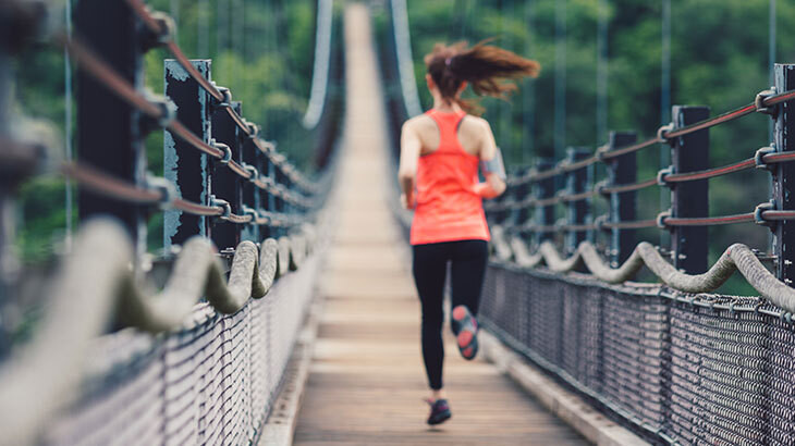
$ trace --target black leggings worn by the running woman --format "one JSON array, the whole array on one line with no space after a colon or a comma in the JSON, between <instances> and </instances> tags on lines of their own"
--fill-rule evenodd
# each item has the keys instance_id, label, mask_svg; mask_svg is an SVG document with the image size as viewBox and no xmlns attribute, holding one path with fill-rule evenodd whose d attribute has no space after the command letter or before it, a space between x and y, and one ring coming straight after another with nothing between
<instances>
[{"instance_id":1,"label":"black leggings worn by the running woman","mask_svg":"<svg viewBox=\"0 0 795 446\"><path fill-rule=\"evenodd\" d=\"M442 388L442 300L448 262L451 263L453 308L465 305L477 314L488 261L486 240L444 241L415 245L414 283L423 305L423 359L430 388Z\"/></svg>"}]
</instances>

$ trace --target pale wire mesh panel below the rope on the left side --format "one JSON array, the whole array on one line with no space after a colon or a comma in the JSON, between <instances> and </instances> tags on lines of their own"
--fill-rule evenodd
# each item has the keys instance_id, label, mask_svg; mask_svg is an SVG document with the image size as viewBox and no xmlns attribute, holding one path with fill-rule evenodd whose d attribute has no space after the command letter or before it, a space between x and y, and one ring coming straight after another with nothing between
<instances>
[{"instance_id":1,"label":"pale wire mesh panel below the rope on the left side","mask_svg":"<svg viewBox=\"0 0 795 446\"><path fill-rule=\"evenodd\" d=\"M234 314L197 306L182 330L98 339L82 398L49 445L241 445L256 441L313 298L318 259Z\"/></svg>"}]
</instances>

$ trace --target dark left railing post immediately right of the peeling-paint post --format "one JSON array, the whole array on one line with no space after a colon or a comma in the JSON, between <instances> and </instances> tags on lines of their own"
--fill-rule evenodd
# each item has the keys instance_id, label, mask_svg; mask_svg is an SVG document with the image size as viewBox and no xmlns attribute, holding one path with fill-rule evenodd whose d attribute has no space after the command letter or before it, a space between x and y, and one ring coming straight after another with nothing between
<instances>
[{"instance_id":1,"label":"dark left railing post immediately right of the peeling-paint post","mask_svg":"<svg viewBox=\"0 0 795 446\"><path fill-rule=\"evenodd\" d=\"M235 112L240 114L241 103L232 102L229 104ZM241 147L238 144L237 124L229 115L224 104L219 104L212 110L212 139L216 143L225 144L232 150L232 161L241 162ZM225 163L213 160L210 170L210 188L212 195L222 200L229 201L232 213L242 215L242 194L240 182L243 181L234 173ZM224 249L234 249L241 241L242 225L227 222L221 219L215 219L210 225L210 238L218 247L219 251Z\"/></svg>"}]
</instances>

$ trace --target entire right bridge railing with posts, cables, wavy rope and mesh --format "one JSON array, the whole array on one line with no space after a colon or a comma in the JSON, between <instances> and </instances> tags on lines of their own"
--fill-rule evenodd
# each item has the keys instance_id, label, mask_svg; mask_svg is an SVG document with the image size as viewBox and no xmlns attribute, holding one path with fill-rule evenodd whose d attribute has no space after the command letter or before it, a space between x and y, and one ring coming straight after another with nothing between
<instances>
[{"instance_id":1,"label":"entire right bridge railing with posts, cables, wavy rope and mesh","mask_svg":"<svg viewBox=\"0 0 795 446\"><path fill-rule=\"evenodd\" d=\"M405 5L390 5L400 11L380 55L397 147L416 101L404 82L411 57L397 54L411 48ZM776 65L775 86L746 106L713 117L674 107L674 122L652 138L614 132L596 152L572 148L510 175L506 194L485 203L493 255L482 325L653 443L794 444L794 65ZM775 120L773 141L710 166L709 128L754 113ZM672 165L638 178L636 153L660 145L671 146ZM770 201L710 215L709 178L750 169L771 175ZM670 189L671 209L639 215L637 193L655 187ZM595 200L604 215L594 215ZM708 269L707 228L741 223L771 231L772 252L734 244ZM671 246L640 241L641 228L669 232ZM644 269L657 282L634 282ZM759 297L715 294L736 271Z\"/></svg>"}]
</instances>

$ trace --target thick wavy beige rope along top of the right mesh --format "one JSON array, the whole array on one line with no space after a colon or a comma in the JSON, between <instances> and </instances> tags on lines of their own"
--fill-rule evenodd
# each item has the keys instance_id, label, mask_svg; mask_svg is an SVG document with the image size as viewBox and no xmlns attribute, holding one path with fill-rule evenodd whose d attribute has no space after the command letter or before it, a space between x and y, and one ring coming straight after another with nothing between
<instances>
[{"instance_id":1,"label":"thick wavy beige rope along top of the right mesh","mask_svg":"<svg viewBox=\"0 0 795 446\"><path fill-rule=\"evenodd\" d=\"M590 241L583 241L568 258L563 258L551 241L539 246L530 255L527 245L518 237L505 240L504 231L492 230L496 258L500 261L513 259L523 268L536 268L543 262L553 272L564 273L585 269L596 278L620 284L634 278L643 267L648 268L665 285L684 293L710 293L723 285L735 271L748 281L759 294L773 305L795 312L795 289L779 281L754 251L743 244L730 246L718 261L704 274L686 274L677 271L653 245L641 241L629 258L619 268L610 268Z\"/></svg>"}]
</instances>

